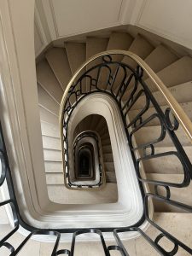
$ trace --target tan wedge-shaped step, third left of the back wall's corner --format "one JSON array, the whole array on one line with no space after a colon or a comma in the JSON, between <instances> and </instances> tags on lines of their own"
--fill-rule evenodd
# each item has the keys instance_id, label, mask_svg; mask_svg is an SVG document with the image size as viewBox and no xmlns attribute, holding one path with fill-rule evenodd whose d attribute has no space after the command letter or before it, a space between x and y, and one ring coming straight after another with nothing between
<instances>
[{"instance_id":1,"label":"tan wedge-shaped step, third left of the back wall's corner","mask_svg":"<svg viewBox=\"0 0 192 256\"><path fill-rule=\"evenodd\" d=\"M86 44L67 42L65 48L71 71L74 74L86 61Z\"/></svg>"}]
</instances>

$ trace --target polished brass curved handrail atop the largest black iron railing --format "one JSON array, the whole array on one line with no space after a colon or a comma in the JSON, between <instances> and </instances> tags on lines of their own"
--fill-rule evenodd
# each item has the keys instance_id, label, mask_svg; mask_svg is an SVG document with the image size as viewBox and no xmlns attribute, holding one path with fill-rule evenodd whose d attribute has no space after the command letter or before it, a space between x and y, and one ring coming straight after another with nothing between
<instances>
[{"instance_id":1,"label":"polished brass curved handrail atop the largest black iron railing","mask_svg":"<svg viewBox=\"0 0 192 256\"><path fill-rule=\"evenodd\" d=\"M76 73L74 73L73 78L67 84L67 88L62 96L61 108L60 108L60 122L61 122L61 113L63 111L64 105L67 99L67 93L68 93L68 90L70 90L70 87L72 86L73 82L78 77L79 73L84 69L84 67L90 64L90 62L95 61L97 58L102 57L104 55L124 55L136 61L137 64L143 68L145 73L148 74L148 78L150 78L154 82L154 85L156 86L156 88L160 90L161 94L165 97L166 102L168 103L169 107L172 108L172 112L177 118L177 121L183 126L183 131L186 132L186 134L188 135L189 139L192 142L192 123L189 117L187 116L187 114L184 113L183 108L179 105L179 103L176 101L174 96L172 96L172 93L167 89L166 85L154 73L154 71L148 66L148 64L145 61L143 61L138 55L135 55L131 51L126 51L121 49L103 51L102 53L99 53L97 55L90 57L88 61L85 61L84 64L81 67L79 67Z\"/></svg>"}]
</instances>

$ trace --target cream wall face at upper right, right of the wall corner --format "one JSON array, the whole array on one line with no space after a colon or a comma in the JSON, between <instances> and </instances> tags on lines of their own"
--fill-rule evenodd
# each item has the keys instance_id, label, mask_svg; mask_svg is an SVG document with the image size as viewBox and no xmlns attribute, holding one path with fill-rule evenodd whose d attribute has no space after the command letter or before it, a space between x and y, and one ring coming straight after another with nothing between
<instances>
[{"instance_id":1,"label":"cream wall face at upper right, right of the wall corner","mask_svg":"<svg viewBox=\"0 0 192 256\"><path fill-rule=\"evenodd\" d=\"M133 25L192 49L192 1L144 0Z\"/></svg>"}]
</instances>

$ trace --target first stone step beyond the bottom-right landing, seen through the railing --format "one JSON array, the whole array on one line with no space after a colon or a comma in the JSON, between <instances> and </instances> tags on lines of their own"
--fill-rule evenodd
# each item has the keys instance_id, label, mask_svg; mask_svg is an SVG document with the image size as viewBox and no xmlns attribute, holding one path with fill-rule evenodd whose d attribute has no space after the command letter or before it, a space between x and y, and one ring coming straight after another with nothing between
<instances>
[{"instance_id":1,"label":"first stone step beyond the bottom-right landing, seen through the railing","mask_svg":"<svg viewBox=\"0 0 192 256\"><path fill-rule=\"evenodd\" d=\"M154 181L166 181L171 183L182 183L183 175L182 174L158 174L158 173L148 173L148 179ZM166 179L165 179L166 178ZM149 185L150 192L154 193L154 186ZM174 188L170 187L172 200L183 202L183 204L192 206L191 197L192 195L192 183L189 184L188 187L185 188ZM158 191L160 195L164 195L164 189L159 186ZM172 207L169 204L161 204L159 201L154 201L154 211L155 212L183 212L182 209L177 207Z\"/></svg>"}]
</instances>

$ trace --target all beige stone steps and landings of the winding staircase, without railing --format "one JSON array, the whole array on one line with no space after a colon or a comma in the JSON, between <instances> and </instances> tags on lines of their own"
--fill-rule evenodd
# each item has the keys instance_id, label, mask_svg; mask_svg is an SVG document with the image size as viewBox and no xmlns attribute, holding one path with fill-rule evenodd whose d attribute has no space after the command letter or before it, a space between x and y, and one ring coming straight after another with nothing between
<instances>
[{"instance_id":1,"label":"all beige stone steps and landings of the winding staircase, without railing","mask_svg":"<svg viewBox=\"0 0 192 256\"><path fill-rule=\"evenodd\" d=\"M106 174L106 186L98 191L79 191L69 190L65 188L63 181L63 166L61 153L61 135L59 124L59 109L61 97L64 90L84 61L91 56L96 55L109 49L124 49L129 50L140 56L149 67L160 77L166 84L167 88L172 92L177 102L183 107L183 110L192 120L192 58L188 55L180 57L168 49L166 45L160 44L154 46L146 38L137 35L136 38L126 32L112 32L109 38L86 38L86 42L66 42L63 48L53 47L49 48L42 58L37 63L37 79L38 79L38 106L42 128L42 140L44 146L44 166L47 180L47 188L49 191L49 199L58 203L75 203L81 204L97 204L97 203L111 203L118 199L118 188L115 177L115 168L113 164L113 150L111 147L110 136L108 133L108 125L105 120L98 114L93 114L83 119L77 125L75 133L90 130L96 131L102 140L102 152ZM126 59L116 61L125 61L126 64L135 68L132 61ZM88 68L88 67L87 67ZM148 88L153 91L153 95L157 102L166 109L165 98L154 88L148 77L143 78L148 84ZM129 95L129 90L125 96ZM137 102L129 113L130 120L133 119L137 113L141 111L145 103L143 96ZM98 107L99 108L99 107ZM149 113L153 113L153 107L149 108L148 113L143 115L147 118ZM146 143L153 140L155 136L160 134L160 124L156 119L151 120L142 130L135 134L137 144ZM176 131L189 160L192 161L192 147L189 138L185 136L182 129ZM157 153L164 153L172 151L172 142L169 137L166 137L161 143L158 143L155 150ZM174 158L166 158L165 160L153 160L143 162L146 176L157 180L168 180L175 183L182 181L183 170ZM149 189L153 190L149 185ZM179 191L178 191L179 190ZM153 192L153 191L152 191ZM164 192L161 188L159 192ZM175 189L172 188L173 199L183 201L183 203L192 206L192 187L191 184L187 188ZM154 201L154 222L159 223L169 232L177 235L190 247L191 246L191 223L192 214L183 212L176 207L161 204L160 201ZM180 228L182 223L183 230ZM3 230L1 230L1 233ZM149 227L147 230L149 236L157 236L157 230ZM17 235L18 237L20 235ZM30 241L34 250L37 250L39 255L49 255L53 245ZM34 244L36 245L34 246ZM107 241L108 245L110 241ZM131 255L159 255L148 243L143 240L143 237L124 241L125 248ZM60 245L70 249L69 243ZM169 241L165 241L166 249L172 250L172 245ZM88 250L88 247L91 248ZM89 252L89 253L88 253ZM102 255L102 248L97 242L86 243L81 242L76 247L75 255ZM119 254L113 254L119 255ZM189 253L180 252L177 255L185 256Z\"/></svg>"}]
</instances>

